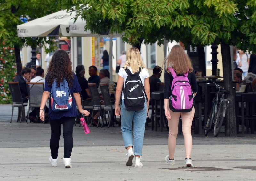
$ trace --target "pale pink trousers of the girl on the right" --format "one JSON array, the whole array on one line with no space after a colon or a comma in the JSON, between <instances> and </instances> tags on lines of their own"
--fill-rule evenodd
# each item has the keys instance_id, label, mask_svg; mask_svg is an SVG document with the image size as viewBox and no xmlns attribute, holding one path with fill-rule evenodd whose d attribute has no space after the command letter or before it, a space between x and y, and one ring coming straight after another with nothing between
<instances>
[{"instance_id":1,"label":"pale pink trousers of the girl on the right","mask_svg":"<svg viewBox=\"0 0 256 181\"><path fill-rule=\"evenodd\" d=\"M195 115L195 108L193 107L190 112L172 112L171 110L171 119L168 119L169 126L169 137L168 137L168 149L170 159L174 158L174 152L176 148L176 138L178 134L178 125L181 115L182 120L182 133L184 136L185 143L185 157L190 158L192 152L192 135L191 135L191 125Z\"/></svg>"}]
</instances>

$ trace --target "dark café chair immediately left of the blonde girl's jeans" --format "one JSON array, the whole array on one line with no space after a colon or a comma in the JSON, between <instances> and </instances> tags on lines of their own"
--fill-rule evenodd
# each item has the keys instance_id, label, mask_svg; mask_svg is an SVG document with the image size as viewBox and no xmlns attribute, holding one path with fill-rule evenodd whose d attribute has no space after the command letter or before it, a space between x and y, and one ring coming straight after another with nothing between
<instances>
[{"instance_id":1,"label":"dark caf\u00e9 chair immediately left of the blonde girl's jeans","mask_svg":"<svg viewBox=\"0 0 256 181\"><path fill-rule=\"evenodd\" d=\"M115 111L115 105L113 105L113 103L115 101L111 100L110 94L109 94L109 90L108 90L108 85L106 83L100 83L100 90L103 96L103 100L104 100L104 113L103 113L103 120L102 122L104 123L104 120L106 122L106 124L108 124L108 128L110 127L110 125L112 124L114 127L114 123L112 122L112 117L114 115L114 111ZM109 121L107 123L107 118L106 118L106 113L109 113L108 117L109 117ZM101 125L101 127L103 127L103 124Z\"/></svg>"}]
</instances>

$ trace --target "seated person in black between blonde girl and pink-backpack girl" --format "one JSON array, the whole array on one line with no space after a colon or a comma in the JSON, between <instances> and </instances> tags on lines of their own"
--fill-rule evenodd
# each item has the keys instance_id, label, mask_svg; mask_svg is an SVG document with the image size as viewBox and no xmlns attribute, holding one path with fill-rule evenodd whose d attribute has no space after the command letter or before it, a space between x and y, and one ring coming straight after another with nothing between
<instances>
[{"instance_id":1,"label":"seated person in black between blonde girl and pink-backpack girl","mask_svg":"<svg viewBox=\"0 0 256 181\"><path fill-rule=\"evenodd\" d=\"M153 69L153 75L149 77L149 86L150 86L150 97L152 92L156 92L159 89L159 84L161 80L162 68L159 66L155 66Z\"/></svg>"}]
</instances>

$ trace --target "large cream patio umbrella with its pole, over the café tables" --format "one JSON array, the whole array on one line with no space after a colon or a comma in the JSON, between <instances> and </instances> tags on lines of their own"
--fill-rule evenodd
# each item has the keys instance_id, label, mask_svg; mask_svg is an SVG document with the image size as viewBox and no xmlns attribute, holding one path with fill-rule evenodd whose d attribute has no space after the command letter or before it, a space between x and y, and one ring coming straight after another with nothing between
<instances>
[{"instance_id":1,"label":"large cream patio umbrella with its pole, over the caf\u00e9 tables","mask_svg":"<svg viewBox=\"0 0 256 181\"><path fill-rule=\"evenodd\" d=\"M110 37L109 65L110 80L112 80L112 38L121 37L118 34L102 33L92 34L90 30L84 31L86 21L78 18L74 23L76 12L67 10L58 11L41 18L28 21L17 26L18 37L47 37L47 36L66 36L66 37Z\"/></svg>"}]
</instances>

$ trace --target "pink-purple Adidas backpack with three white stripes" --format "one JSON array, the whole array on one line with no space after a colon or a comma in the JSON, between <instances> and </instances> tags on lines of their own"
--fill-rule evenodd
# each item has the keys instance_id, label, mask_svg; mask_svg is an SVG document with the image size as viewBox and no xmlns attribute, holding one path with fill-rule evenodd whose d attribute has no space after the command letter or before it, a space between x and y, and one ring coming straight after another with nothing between
<instances>
[{"instance_id":1,"label":"pink-purple Adidas backpack with three white stripes","mask_svg":"<svg viewBox=\"0 0 256 181\"><path fill-rule=\"evenodd\" d=\"M173 112L190 112L194 106L193 92L186 74L176 74L172 67L168 68L173 76L169 107Z\"/></svg>"}]
</instances>

